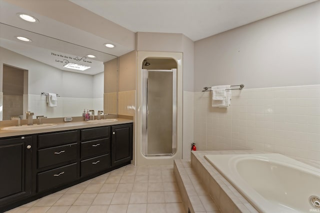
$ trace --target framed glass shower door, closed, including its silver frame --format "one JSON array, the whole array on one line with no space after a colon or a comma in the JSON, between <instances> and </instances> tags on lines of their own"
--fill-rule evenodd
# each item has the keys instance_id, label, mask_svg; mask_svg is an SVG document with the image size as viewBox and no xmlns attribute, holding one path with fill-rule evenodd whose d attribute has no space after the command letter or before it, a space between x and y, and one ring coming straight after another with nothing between
<instances>
[{"instance_id":1,"label":"framed glass shower door, closed, including its silver frame","mask_svg":"<svg viewBox=\"0 0 320 213\"><path fill-rule=\"evenodd\" d=\"M173 155L176 150L176 69L143 69L142 77L142 152L145 156Z\"/></svg>"}]
</instances>

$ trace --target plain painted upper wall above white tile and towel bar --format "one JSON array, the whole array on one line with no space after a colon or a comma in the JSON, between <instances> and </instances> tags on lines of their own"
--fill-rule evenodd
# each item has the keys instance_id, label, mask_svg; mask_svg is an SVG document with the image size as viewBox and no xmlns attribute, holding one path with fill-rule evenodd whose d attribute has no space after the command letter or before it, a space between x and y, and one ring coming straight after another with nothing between
<instances>
[{"instance_id":1,"label":"plain painted upper wall above white tile and towel bar","mask_svg":"<svg viewBox=\"0 0 320 213\"><path fill-rule=\"evenodd\" d=\"M320 83L320 1L195 41L194 91Z\"/></svg>"}]
</instances>

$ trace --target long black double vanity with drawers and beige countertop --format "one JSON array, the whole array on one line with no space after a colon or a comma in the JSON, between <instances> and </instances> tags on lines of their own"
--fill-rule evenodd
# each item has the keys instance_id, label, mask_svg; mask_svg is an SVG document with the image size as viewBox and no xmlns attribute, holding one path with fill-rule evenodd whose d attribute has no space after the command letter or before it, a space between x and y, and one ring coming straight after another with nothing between
<instances>
[{"instance_id":1,"label":"long black double vanity with drawers and beige countertop","mask_svg":"<svg viewBox=\"0 0 320 213\"><path fill-rule=\"evenodd\" d=\"M132 120L41 125L0 130L0 212L132 160Z\"/></svg>"}]
</instances>

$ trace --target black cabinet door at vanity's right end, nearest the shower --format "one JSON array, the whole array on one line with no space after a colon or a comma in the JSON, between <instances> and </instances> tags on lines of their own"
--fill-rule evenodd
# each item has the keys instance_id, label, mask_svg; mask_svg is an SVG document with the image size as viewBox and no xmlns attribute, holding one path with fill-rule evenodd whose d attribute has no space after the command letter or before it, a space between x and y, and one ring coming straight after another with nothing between
<instances>
[{"instance_id":1,"label":"black cabinet door at vanity's right end, nearest the shower","mask_svg":"<svg viewBox=\"0 0 320 213\"><path fill-rule=\"evenodd\" d=\"M132 160L132 124L111 127L111 166Z\"/></svg>"}]
</instances>

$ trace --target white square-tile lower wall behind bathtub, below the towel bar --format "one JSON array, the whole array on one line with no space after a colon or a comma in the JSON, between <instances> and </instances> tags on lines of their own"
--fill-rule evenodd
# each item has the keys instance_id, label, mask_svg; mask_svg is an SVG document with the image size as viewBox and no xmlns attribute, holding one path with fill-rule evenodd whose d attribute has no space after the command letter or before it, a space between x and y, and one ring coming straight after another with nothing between
<instances>
[{"instance_id":1,"label":"white square-tile lower wall behind bathtub, below the towel bar","mask_svg":"<svg viewBox=\"0 0 320 213\"><path fill-rule=\"evenodd\" d=\"M194 93L198 150L253 149L320 164L320 85L232 90L229 108Z\"/></svg>"}]
</instances>

